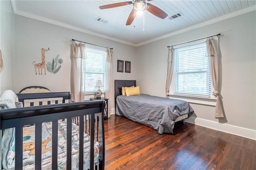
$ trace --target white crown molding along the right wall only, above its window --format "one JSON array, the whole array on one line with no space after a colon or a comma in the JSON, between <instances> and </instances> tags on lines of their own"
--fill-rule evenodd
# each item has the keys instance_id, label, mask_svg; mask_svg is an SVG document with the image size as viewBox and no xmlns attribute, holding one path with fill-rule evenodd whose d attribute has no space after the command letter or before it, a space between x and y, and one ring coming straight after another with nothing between
<instances>
[{"instance_id":1,"label":"white crown molding along the right wall only, above its window","mask_svg":"<svg viewBox=\"0 0 256 170\"><path fill-rule=\"evenodd\" d=\"M184 28L184 29L176 31L176 32L172 32L170 34L166 34L164 36L160 36L158 38L153 38L151 40L148 40L148 41L145 41L145 42L142 42L142 43L137 43L136 47L138 47L140 45L145 45L147 43L152 43L152 42L155 42L155 41L158 41L158 40L162 40L164 38L168 38L168 37L171 37L171 36L175 36L175 35L178 35L178 34L181 34L181 33L184 33L184 32L188 32L188 31L194 30L196 28L201 28L201 27L204 27L204 26L208 26L210 24L214 24L216 22L220 22L220 21L223 21L223 20L226 20L226 19L229 19L229 18L233 18L235 16L239 16L239 15L242 15L242 14L246 14L248 12L252 12L252 11L255 11L255 10L256 10L256 5L245 8L243 10L239 10L239 11L224 15L224 16L220 16L218 18L214 18L214 19L206 21L206 22L202 22L200 24L196 24L194 26L190 26L188 28Z\"/></svg>"}]
</instances>

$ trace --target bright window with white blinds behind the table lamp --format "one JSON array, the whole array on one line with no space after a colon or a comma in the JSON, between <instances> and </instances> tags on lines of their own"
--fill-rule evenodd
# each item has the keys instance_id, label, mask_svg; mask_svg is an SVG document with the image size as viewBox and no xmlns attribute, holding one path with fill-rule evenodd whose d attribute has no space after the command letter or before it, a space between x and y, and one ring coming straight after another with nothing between
<instances>
[{"instance_id":1,"label":"bright window with white blinds behind the table lamp","mask_svg":"<svg viewBox=\"0 0 256 170\"><path fill-rule=\"evenodd\" d=\"M86 60L85 77L83 74L83 91L84 92L95 92L98 87L95 87L96 81L101 80L104 87L100 87L101 91L105 91L106 87L106 51L102 49L85 48Z\"/></svg>"}]
</instances>

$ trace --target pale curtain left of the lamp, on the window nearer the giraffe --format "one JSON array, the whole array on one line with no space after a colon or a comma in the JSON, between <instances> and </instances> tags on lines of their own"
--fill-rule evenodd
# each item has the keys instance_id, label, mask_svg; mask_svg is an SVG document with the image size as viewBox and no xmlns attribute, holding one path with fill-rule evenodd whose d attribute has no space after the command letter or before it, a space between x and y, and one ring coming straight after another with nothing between
<instances>
[{"instance_id":1,"label":"pale curtain left of the lamp, on the window nearer the giraffe","mask_svg":"<svg viewBox=\"0 0 256 170\"><path fill-rule=\"evenodd\" d=\"M85 70L85 44L75 43L72 41L70 45L70 59L71 59L71 99L74 101L84 101L83 93L83 77L85 78L82 70Z\"/></svg>"}]
</instances>

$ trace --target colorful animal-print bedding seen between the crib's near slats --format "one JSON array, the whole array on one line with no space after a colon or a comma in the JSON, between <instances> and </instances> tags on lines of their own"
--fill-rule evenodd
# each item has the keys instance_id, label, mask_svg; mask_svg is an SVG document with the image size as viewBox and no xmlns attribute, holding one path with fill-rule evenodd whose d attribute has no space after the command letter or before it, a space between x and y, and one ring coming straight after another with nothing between
<instances>
[{"instance_id":1,"label":"colorful animal-print bedding seen between the crib's near slats","mask_svg":"<svg viewBox=\"0 0 256 170\"><path fill-rule=\"evenodd\" d=\"M66 121L58 123L58 169L66 169ZM94 141L94 164L99 158L99 143ZM79 163L79 127L72 123L72 170ZM35 126L23 128L23 169L34 170ZM15 169L15 129L5 129L2 136L2 168ZM42 123L42 170L52 168L52 123ZM84 133L84 169L90 168L90 136Z\"/></svg>"}]
</instances>

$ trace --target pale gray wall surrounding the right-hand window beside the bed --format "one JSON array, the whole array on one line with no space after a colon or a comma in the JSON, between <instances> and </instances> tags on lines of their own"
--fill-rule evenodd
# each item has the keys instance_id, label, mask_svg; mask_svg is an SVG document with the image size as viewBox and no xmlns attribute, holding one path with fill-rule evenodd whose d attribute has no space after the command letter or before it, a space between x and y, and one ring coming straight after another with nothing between
<instances>
[{"instance_id":1,"label":"pale gray wall surrounding the right-hand window beside the bed","mask_svg":"<svg viewBox=\"0 0 256 170\"><path fill-rule=\"evenodd\" d=\"M250 12L138 47L137 84L141 93L165 97L168 45L222 34L221 70L225 119L219 123L249 128L256 138L256 12ZM191 104L193 117L216 121L214 107Z\"/></svg>"}]
</instances>

